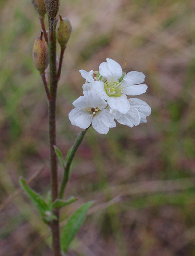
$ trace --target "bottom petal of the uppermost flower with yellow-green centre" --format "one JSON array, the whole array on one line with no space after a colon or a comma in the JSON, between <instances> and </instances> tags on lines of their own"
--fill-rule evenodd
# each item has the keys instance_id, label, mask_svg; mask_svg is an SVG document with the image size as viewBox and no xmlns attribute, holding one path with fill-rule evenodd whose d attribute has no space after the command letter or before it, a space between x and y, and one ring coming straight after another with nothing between
<instances>
[{"instance_id":1,"label":"bottom petal of the uppermost flower with yellow-green centre","mask_svg":"<svg viewBox=\"0 0 195 256\"><path fill-rule=\"evenodd\" d=\"M109 97L107 103L111 108L118 110L122 114L126 114L130 109L130 103L126 95L122 95L120 97Z\"/></svg>"}]
</instances>

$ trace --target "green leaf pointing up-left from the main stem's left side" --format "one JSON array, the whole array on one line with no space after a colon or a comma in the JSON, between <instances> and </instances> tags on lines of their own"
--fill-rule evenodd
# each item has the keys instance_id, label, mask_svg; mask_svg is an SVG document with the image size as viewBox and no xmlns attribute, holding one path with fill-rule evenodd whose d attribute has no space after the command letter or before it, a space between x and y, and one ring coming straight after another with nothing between
<instances>
[{"instance_id":1,"label":"green leaf pointing up-left from the main stem's left side","mask_svg":"<svg viewBox=\"0 0 195 256\"><path fill-rule=\"evenodd\" d=\"M23 190L26 192L30 201L35 205L35 207L39 210L42 218L44 219L46 216L46 212L49 211L49 205L44 201L42 196L36 193L34 190L29 188L26 181L24 179L20 179L20 185Z\"/></svg>"}]
</instances>

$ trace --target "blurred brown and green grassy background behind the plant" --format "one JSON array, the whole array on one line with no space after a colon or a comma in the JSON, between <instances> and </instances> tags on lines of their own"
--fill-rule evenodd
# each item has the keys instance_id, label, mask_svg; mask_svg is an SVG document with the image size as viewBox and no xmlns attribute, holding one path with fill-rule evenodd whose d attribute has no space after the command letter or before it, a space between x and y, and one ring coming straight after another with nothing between
<instances>
[{"instance_id":1,"label":"blurred brown and green grassy background behind the plant","mask_svg":"<svg viewBox=\"0 0 195 256\"><path fill-rule=\"evenodd\" d=\"M61 0L59 13L73 27L58 89L63 155L80 132L68 119L82 95L80 69L128 59L126 72L146 75L138 97L152 108L137 127L88 130L64 196L79 200L62 209L62 223L95 203L67 256L195 255L195 2ZM48 227L18 189L23 176L44 197L49 190L48 106L32 63L39 35L30 0L0 1L1 256L52 255Z\"/></svg>"}]
</instances>

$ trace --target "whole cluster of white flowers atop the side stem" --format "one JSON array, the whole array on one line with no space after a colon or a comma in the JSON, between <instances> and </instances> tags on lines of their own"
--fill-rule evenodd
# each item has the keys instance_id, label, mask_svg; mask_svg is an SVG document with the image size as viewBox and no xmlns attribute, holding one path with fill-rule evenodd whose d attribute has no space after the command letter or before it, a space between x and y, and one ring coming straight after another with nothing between
<instances>
[{"instance_id":1,"label":"whole cluster of white flowers atop the side stem","mask_svg":"<svg viewBox=\"0 0 195 256\"><path fill-rule=\"evenodd\" d=\"M126 95L140 95L146 92L145 75L131 71L127 74L114 60L107 58L102 62L99 71L80 70L86 80L83 94L73 102L75 109L69 113L73 125L86 129L90 125L101 133L107 134L109 128L119 123L133 127L147 122L150 106L141 99Z\"/></svg>"}]
</instances>

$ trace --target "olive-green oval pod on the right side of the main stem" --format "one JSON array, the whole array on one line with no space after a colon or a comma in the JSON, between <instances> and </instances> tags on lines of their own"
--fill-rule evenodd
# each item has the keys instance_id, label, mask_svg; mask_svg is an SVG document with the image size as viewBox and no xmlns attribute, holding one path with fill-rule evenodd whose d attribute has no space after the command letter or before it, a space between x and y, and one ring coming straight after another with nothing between
<instances>
[{"instance_id":1,"label":"olive-green oval pod on the right side of the main stem","mask_svg":"<svg viewBox=\"0 0 195 256\"><path fill-rule=\"evenodd\" d=\"M70 38L71 31L72 31L72 26L69 19L62 18L62 16L60 15L60 21L57 26L56 35L57 35L58 43L61 45L61 47L64 47L67 44Z\"/></svg>"}]
</instances>

